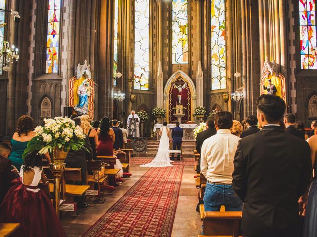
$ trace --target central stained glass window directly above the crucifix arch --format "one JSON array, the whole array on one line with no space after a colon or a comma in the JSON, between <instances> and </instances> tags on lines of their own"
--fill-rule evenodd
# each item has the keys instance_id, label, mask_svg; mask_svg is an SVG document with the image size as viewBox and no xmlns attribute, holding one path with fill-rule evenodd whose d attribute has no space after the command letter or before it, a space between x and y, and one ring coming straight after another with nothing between
<instances>
[{"instance_id":1,"label":"central stained glass window directly above the crucifix arch","mask_svg":"<svg viewBox=\"0 0 317 237\"><path fill-rule=\"evenodd\" d=\"M188 1L172 2L173 64L188 63Z\"/></svg>"}]
</instances>

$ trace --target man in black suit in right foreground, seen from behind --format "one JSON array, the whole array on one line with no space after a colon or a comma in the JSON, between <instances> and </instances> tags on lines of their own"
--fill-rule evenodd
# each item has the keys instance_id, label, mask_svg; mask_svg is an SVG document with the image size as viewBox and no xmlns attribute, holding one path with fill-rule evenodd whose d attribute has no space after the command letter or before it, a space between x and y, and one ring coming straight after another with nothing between
<instances>
[{"instance_id":1,"label":"man in black suit in right foreground, seen from behind","mask_svg":"<svg viewBox=\"0 0 317 237\"><path fill-rule=\"evenodd\" d=\"M298 200L309 185L312 163L308 143L279 125L285 108L280 97L261 95L262 130L238 144L232 184L244 202L244 237L301 236Z\"/></svg>"}]
</instances>

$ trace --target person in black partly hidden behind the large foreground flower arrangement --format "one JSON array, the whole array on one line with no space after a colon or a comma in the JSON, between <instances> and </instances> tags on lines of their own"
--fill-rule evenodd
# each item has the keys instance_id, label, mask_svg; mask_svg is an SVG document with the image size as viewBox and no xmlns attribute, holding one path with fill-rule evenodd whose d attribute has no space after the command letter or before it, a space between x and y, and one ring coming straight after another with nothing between
<instances>
[{"instance_id":1,"label":"person in black partly hidden behind the large foreground flower arrangement","mask_svg":"<svg viewBox=\"0 0 317 237\"><path fill-rule=\"evenodd\" d=\"M77 126L81 125L79 117L75 117L73 120ZM75 181L74 183L78 185L87 185L87 160L92 160L93 157L92 148L87 136L85 138L85 147L90 151L89 153L83 148L78 151L70 150L65 159L67 168L81 168L81 181ZM85 203L85 199L85 195L75 197L78 208L86 208L89 206L88 203Z\"/></svg>"}]
</instances>

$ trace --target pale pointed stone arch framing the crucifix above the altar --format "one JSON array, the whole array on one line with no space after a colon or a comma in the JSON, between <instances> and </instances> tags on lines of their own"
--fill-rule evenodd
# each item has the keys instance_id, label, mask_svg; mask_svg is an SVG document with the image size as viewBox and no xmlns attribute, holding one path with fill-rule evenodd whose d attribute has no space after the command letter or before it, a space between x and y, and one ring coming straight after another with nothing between
<instances>
[{"instance_id":1,"label":"pale pointed stone arch framing the crucifix above the altar","mask_svg":"<svg viewBox=\"0 0 317 237\"><path fill-rule=\"evenodd\" d=\"M184 81L187 82L188 87L189 87L189 91L191 93L191 113L194 111L194 109L196 108L196 87L195 87L195 83L193 82L193 80L183 71L178 70L177 72L175 72L173 75L171 75L169 77L169 79L167 80L165 86L164 86L164 95L163 95L163 107L166 110L166 118L167 120L169 119L169 91L171 89L172 83L175 79L177 79L178 77L182 77L182 79L184 79ZM191 121L194 121L193 116L191 116Z\"/></svg>"}]
</instances>

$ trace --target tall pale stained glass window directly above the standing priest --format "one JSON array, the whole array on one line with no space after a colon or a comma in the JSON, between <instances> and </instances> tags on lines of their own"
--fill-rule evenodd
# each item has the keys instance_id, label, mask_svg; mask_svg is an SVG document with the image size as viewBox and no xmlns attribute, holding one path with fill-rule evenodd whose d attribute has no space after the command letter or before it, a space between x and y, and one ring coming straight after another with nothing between
<instances>
[{"instance_id":1,"label":"tall pale stained glass window directly above the standing priest","mask_svg":"<svg viewBox=\"0 0 317 237\"><path fill-rule=\"evenodd\" d=\"M134 89L149 90L149 0L135 0Z\"/></svg>"}]
</instances>

